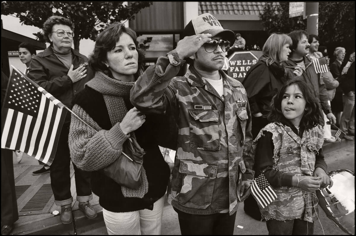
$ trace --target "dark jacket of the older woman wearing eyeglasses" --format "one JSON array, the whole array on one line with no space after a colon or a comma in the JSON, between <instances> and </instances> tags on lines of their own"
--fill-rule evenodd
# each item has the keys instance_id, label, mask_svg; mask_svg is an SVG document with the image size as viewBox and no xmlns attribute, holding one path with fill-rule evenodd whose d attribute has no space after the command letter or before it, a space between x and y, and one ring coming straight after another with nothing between
<instances>
[{"instance_id":1,"label":"dark jacket of the older woman wearing eyeglasses","mask_svg":"<svg viewBox=\"0 0 356 236\"><path fill-rule=\"evenodd\" d=\"M86 56L73 49L70 50L72 50L73 70L80 65L87 65ZM84 89L84 84L94 76L89 66L86 66L86 69L88 70L87 76L73 84L67 76L69 69L58 59L53 53L52 47L49 46L33 57L27 76L70 109L74 95ZM69 121L70 112L67 112L66 122Z\"/></svg>"}]
</instances>

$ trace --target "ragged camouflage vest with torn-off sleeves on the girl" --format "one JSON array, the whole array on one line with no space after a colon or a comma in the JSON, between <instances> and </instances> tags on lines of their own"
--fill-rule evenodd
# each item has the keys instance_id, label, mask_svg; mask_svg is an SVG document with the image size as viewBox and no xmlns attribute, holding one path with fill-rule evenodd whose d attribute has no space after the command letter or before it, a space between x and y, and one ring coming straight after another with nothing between
<instances>
[{"instance_id":1,"label":"ragged camouflage vest with torn-off sleeves on the girl","mask_svg":"<svg viewBox=\"0 0 356 236\"><path fill-rule=\"evenodd\" d=\"M284 174L302 174L313 176L315 169L315 154L323 147L323 127L320 125L304 130L302 138L295 134L290 127L281 123L266 125L256 139L253 140L253 153L256 152L258 140L263 136L263 131L272 133L274 144L273 169ZM313 222L316 212L313 206L317 202L313 193L299 187L272 187L277 198L260 211L262 218L267 220L303 219ZM315 192L314 192L315 194Z\"/></svg>"}]
</instances>

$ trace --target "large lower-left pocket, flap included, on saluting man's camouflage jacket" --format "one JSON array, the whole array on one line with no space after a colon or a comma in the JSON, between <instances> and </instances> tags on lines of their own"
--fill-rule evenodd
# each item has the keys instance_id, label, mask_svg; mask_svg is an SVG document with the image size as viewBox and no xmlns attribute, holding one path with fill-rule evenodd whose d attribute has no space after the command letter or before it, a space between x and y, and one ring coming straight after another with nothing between
<instances>
[{"instance_id":1,"label":"large lower-left pocket, flap included, on saluting man's camouflage jacket","mask_svg":"<svg viewBox=\"0 0 356 236\"><path fill-rule=\"evenodd\" d=\"M180 160L182 188L177 201L185 207L206 209L211 204L218 164Z\"/></svg>"}]
</instances>

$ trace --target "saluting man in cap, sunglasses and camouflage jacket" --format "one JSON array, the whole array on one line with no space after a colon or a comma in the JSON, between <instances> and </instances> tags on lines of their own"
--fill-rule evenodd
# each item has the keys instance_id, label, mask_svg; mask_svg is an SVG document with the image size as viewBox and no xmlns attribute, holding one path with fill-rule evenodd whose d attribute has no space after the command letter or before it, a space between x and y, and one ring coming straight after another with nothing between
<instances>
[{"instance_id":1,"label":"saluting man in cap, sunglasses and camouflage jacket","mask_svg":"<svg viewBox=\"0 0 356 236\"><path fill-rule=\"evenodd\" d=\"M242 84L221 68L235 34L209 13L184 28L177 48L147 68L131 89L144 113L172 112L177 152L168 202L187 234L233 234L237 205L253 180L251 112ZM184 76L176 76L185 62Z\"/></svg>"}]
</instances>

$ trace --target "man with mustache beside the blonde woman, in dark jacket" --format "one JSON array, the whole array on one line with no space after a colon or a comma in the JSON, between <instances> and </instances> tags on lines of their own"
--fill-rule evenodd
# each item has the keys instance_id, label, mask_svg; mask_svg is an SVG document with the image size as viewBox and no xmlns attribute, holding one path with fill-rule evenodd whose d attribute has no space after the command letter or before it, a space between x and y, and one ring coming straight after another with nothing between
<instances>
[{"instance_id":1,"label":"man with mustache beside the blonde woman, in dark jacket","mask_svg":"<svg viewBox=\"0 0 356 236\"><path fill-rule=\"evenodd\" d=\"M328 94L326 93L326 86L322 79L320 79L320 73L315 73L312 59L307 57L309 54L310 44L308 42L309 35L303 30L292 31L288 34L292 39L293 44L289 47L292 53L289 54L287 62L284 62L286 67L287 79L302 79L310 87L313 88L315 97L320 101L321 109L319 111L319 124L324 126L324 116L329 119L330 124L336 123L336 117L331 111L331 107L328 103ZM300 65L302 68L302 75L297 76L293 71L295 66Z\"/></svg>"}]
</instances>

